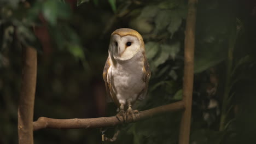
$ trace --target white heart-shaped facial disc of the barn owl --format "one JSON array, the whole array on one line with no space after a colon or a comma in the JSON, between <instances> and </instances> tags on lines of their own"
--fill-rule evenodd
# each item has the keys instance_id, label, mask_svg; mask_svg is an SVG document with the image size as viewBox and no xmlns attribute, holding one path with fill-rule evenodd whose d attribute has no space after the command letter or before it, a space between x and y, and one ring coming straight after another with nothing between
<instances>
[{"instance_id":1,"label":"white heart-shaped facial disc of the barn owl","mask_svg":"<svg viewBox=\"0 0 256 144\"><path fill-rule=\"evenodd\" d=\"M141 50L141 42L133 35L120 37L120 35L114 34L110 39L109 52L115 59L126 61L135 56L139 50Z\"/></svg>"}]
</instances>

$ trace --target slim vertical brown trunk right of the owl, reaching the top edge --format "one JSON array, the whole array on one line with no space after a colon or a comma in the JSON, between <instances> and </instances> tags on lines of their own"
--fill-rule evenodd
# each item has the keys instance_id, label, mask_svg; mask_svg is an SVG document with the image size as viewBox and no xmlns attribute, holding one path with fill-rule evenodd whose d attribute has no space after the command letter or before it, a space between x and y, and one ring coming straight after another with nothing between
<instances>
[{"instance_id":1,"label":"slim vertical brown trunk right of the owl, reaching the top edge","mask_svg":"<svg viewBox=\"0 0 256 144\"><path fill-rule=\"evenodd\" d=\"M194 47L197 0L189 0L188 17L185 30L183 101L185 110L179 132L179 144L188 144L190 136L191 105L194 80Z\"/></svg>"}]
</instances>

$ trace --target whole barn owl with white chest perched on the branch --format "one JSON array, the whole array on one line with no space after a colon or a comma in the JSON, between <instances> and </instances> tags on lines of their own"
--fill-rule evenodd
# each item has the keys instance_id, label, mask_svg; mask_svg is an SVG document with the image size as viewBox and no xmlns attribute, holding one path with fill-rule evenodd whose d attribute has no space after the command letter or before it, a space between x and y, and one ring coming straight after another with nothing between
<instances>
[{"instance_id":1,"label":"whole barn owl with white chest perched on the branch","mask_svg":"<svg viewBox=\"0 0 256 144\"><path fill-rule=\"evenodd\" d=\"M103 79L107 95L119 107L119 120L123 117L126 121L131 115L134 121L132 105L138 98L146 96L149 78L149 64L141 34L130 28L115 30L110 38Z\"/></svg>"}]
</instances>

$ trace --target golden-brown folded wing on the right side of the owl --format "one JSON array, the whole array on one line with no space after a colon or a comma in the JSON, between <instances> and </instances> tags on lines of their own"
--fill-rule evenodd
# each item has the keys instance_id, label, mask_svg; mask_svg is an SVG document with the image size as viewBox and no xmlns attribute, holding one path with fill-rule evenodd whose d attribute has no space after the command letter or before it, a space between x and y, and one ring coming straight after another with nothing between
<instances>
[{"instance_id":1,"label":"golden-brown folded wing on the right side of the owl","mask_svg":"<svg viewBox=\"0 0 256 144\"><path fill-rule=\"evenodd\" d=\"M138 95L138 99L139 100L142 100L142 99L144 99L146 97L147 92L148 92L148 82L149 82L149 79L150 79L150 76L151 76L148 60L147 60L147 58L145 56L144 56L143 73L144 73L144 75L142 77L142 80L146 83L146 85L145 85L145 88L142 89L142 91Z\"/></svg>"}]
</instances>

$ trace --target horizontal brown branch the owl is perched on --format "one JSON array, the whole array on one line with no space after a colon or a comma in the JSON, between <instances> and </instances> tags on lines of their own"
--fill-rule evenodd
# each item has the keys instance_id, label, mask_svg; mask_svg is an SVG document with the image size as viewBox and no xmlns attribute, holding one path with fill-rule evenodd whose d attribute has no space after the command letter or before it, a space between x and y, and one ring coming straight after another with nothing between
<instances>
[{"instance_id":1,"label":"horizontal brown branch the owl is perched on","mask_svg":"<svg viewBox=\"0 0 256 144\"><path fill-rule=\"evenodd\" d=\"M166 112L178 111L184 109L183 101L176 103L155 107L153 109L140 111L136 114L135 122L142 119L150 118ZM132 122L129 117L127 123ZM37 121L33 122L33 129L39 130L44 128L59 128L59 129L77 129L77 128L101 128L112 127L114 125L122 124L117 117L98 117L98 118L73 118L73 119L54 119L47 117L39 117Z\"/></svg>"}]
</instances>

